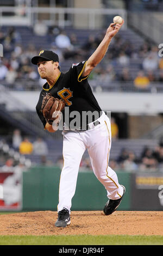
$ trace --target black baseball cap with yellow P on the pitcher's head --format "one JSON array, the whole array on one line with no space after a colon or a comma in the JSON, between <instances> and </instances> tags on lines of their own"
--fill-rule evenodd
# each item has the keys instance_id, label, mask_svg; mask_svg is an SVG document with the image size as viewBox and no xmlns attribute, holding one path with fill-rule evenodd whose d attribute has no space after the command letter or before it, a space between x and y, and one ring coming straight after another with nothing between
<instances>
[{"instance_id":1,"label":"black baseball cap with yellow P on the pitcher's head","mask_svg":"<svg viewBox=\"0 0 163 256\"><path fill-rule=\"evenodd\" d=\"M35 56L31 59L31 62L34 65L37 65L39 58L47 59L47 60L53 60L54 62L59 62L58 55L55 52L42 50L39 53L39 56Z\"/></svg>"}]
</instances>

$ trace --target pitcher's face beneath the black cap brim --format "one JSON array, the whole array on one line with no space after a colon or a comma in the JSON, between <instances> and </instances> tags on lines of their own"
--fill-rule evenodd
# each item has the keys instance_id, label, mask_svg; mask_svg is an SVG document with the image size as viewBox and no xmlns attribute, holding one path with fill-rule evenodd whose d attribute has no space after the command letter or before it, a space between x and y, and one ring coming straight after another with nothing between
<instances>
[{"instance_id":1,"label":"pitcher's face beneath the black cap brim","mask_svg":"<svg viewBox=\"0 0 163 256\"><path fill-rule=\"evenodd\" d=\"M37 70L42 79L48 79L54 74L54 63L52 60L40 60L37 63Z\"/></svg>"}]
</instances>

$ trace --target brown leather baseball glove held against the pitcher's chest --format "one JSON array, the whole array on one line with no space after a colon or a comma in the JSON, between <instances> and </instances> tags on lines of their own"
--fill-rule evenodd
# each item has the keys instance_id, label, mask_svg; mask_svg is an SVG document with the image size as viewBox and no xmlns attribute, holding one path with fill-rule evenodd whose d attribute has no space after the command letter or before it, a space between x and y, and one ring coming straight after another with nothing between
<instances>
[{"instance_id":1,"label":"brown leather baseball glove held against the pitcher's chest","mask_svg":"<svg viewBox=\"0 0 163 256\"><path fill-rule=\"evenodd\" d=\"M65 101L53 97L50 93L43 97L41 112L48 124L52 125L54 120L59 123L61 119L61 112L64 108Z\"/></svg>"}]
</instances>

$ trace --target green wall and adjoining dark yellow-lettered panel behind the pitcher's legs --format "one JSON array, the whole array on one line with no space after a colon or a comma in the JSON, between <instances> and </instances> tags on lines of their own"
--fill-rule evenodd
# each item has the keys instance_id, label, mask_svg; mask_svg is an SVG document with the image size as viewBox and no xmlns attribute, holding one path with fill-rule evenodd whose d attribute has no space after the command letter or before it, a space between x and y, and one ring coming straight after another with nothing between
<instances>
[{"instance_id":1,"label":"green wall and adjoining dark yellow-lettered panel behind the pitcher's legs","mask_svg":"<svg viewBox=\"0 0 163 256\"><path fill-rule=\"evenodd\" d=\"M34 167L23 173L23 210L57 211L59 167ZM162 173L117 172L126 194L118 210L163 210ZM72 210L102 210L106 191L96 176L79 172Z\"/></svg>"}]
</instances>

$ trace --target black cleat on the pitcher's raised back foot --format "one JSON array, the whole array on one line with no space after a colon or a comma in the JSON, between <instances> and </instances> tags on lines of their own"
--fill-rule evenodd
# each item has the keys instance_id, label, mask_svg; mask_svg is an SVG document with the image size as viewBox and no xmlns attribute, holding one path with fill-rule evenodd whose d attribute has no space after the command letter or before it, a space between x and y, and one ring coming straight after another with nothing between
<instances>
[{"instance_id":1,"label":"black cleat on the pitcher's raised back foot","mask_svg":"<svg viewBox=\"0 0 163 256\"><path fill-rule=\"evenodd\" d=\"M123 191L124 191L122 197L120 199L117 199L117 200L112 200L112 199L108 200L108 202L105 204L104 210L103 210L105 215L112 214L112 212L114 212L118 208L118 206L120 205L121 200L124 196L124 193L126 192L126 188L123 185L121 185L121 186L123 187Z\"/></svg>"}]
</instances>

